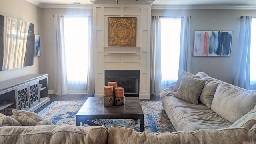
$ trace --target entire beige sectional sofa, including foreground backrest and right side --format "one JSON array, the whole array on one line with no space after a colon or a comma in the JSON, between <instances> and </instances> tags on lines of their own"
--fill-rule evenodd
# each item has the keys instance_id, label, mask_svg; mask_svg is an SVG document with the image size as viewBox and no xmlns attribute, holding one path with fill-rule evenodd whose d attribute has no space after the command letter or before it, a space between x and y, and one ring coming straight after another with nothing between
<instances>
[{"instance_id":1,"label":"entire beige sectional sofa, including foreground backrest and right side","mask_svg":"<svg viewBox=\"0 0 256 144\"><path fill-rule=\"evenodd\" d=\"M177 132L137 132L111 126L54 126L34 112L0 114L0 144L254 144L256 94L183 71L160 94Z\"/></svg>"}]
</instances>

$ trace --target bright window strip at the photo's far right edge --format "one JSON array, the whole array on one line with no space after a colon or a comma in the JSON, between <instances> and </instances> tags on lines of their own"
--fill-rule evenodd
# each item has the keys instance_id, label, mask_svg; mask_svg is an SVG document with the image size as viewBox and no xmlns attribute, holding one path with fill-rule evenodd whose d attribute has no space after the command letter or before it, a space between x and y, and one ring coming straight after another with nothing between
<instances>
[{"instance_id":1,"label":"bright window strip at the photo's far right edge","mask_svg":"<svg viewBox=\"0 0 256 144\"><path fill-rule=\"evenodd\" d=\"M256 18L252 18L250 48L250 85L256 85Z\"/></svg>"}]
</instances>

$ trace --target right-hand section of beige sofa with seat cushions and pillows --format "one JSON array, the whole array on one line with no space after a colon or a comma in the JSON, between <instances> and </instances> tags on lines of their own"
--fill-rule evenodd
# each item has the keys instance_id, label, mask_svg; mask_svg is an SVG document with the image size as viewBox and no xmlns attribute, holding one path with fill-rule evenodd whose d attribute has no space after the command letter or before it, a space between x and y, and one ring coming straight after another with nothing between
<instances>
[{"instance_id":1,"label":"right-hand section of beige sofa with seat cushions and pillows","mask_svg":"<svg viewBox=\"0 0 256 144\"><path fill-rule=\"evenodd\" d=\"M183 71L160 93L177 131L244 127L256 124L256 93L198 72Z\"/></svg>"}]
</instances>

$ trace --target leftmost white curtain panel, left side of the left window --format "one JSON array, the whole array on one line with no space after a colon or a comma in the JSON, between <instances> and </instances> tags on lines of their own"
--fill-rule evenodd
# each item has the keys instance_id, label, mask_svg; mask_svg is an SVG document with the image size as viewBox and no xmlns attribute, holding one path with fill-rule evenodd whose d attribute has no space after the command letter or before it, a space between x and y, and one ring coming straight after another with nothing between
<instances>
[{"instance_id":1,"label":"leftmost white curtain panel, left side of the left window","mask_svg":"<svg viewBox=\"0 0 256 144\"><path fill-rule=\"evenodd\" d=\"M63 18L56 14L54 17L55 35L55 74L54 74L54 94L68 94L68 83L66 74L66 60L64 48Z\"/></svg>"}]
</instances>

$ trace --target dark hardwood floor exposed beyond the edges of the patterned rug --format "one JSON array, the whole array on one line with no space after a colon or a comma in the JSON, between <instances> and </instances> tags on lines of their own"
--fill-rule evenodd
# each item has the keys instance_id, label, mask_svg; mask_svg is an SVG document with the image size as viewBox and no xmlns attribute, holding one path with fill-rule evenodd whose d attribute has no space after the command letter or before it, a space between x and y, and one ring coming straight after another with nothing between
<instances>
[{"instance_id":1,"label":"dark hardwood floor exposed beyond the edges of the patterned rug","mask_svg":"<svg viewBox=\"0 0 256 144\"><path fill-rule=\"evenodd\" d=\"M40 108L38 108L35 112L38 113L43 110L46 106L51 104L54 101L61 101L61 100L87 100L88 97L94 97L94 95L87 95L87 94L67 94L64 96L58 96L55 94L49 94L50 102L47 102ZM149 100L149 99L141 99L141 100ZM160 98L160 94L150 94L150 100L162 100Z\"/></svg>"}]
</instances>

